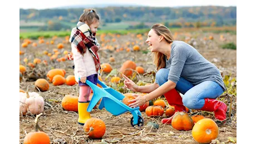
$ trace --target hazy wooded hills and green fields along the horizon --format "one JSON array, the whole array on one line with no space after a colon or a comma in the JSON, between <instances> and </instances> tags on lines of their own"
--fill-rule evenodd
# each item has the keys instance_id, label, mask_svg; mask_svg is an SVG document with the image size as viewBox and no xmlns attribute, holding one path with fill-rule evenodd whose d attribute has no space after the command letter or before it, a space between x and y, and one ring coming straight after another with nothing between
<instances>
[{"instance_id":1,"label":"hazy wooded hills and green fields along the horizon","mask_svg":"<svg viewBox=\"0 0 256 144\"><path fill-rule=\"evenodd\" d=\"M41 10L19 9L19 19L22 21L20 26L21 29L70 29L78 22L84 8L96 9L100 15L102 29L147 28L152 23L164 23L170 27L223 26L237 23L237 7L145 7L103 4ZM40 25L35 25L35 23L40 23ZM45 25L44 28L42 24Z\"/></svg>"}]
</instances>

